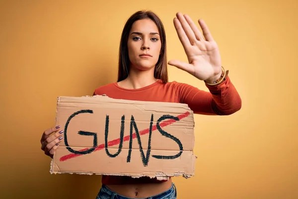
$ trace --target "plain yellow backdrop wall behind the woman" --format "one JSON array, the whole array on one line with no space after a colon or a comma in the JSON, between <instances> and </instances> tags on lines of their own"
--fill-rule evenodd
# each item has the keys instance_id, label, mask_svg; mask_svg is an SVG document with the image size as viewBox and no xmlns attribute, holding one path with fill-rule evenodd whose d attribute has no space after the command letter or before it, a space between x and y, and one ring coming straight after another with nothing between
<instances>
[{"instance_id":1,"label":"plain yellow backdrop wall behind the woman","mask_svg":"<svg viewBox=\"0 0 298 199\"><path fill-rule=\"evenodd\" d=\"M187 61L175 13L203 18L242 98L233 115L195 115L196 173L173 179L178 199L297 199L296 0L1 0L0 198L95 199L101 177L50 175L40 137L58 96L116 81L121 31L140 9L162 19L168 60ZM168 68L170 81L207 90Z\"/></svg>"}]
</instances>

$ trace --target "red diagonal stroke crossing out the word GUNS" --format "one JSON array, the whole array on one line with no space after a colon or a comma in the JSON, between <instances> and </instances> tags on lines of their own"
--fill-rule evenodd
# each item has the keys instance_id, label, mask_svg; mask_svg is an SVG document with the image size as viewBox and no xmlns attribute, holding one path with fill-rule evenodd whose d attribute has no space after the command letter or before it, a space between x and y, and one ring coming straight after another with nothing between
<instances>
[{"instance_id":1,"label":"red diagonal stroke crossing out the word GUNS","mask_svg":"<svg viewBox=\"0 0 298 199\"><path fill-rule=\"evenodd\" d=\"M183 113L183 114L178 115L177 117L179 118L179 120L181 120L181 119L187 117L189 114L190 114L190 112L187 111L187 112L185 112L185 113ZM174 119L168 119L168 120L166 120L166 121L161 122L159 125L160 125L160 127L164 127L164 126L170 125L170 124L172 124L172 123L174 123L174 122L176 122L176 121L177 121L177 120L174 120ZM157 129L156 125L152 126L152 131L154 131L154 130L156 130L156 129ZM146 128L146 129L144 129L144 130L141 130L139 133L140 133L140 135L145 135L145 134L149 133L149 128ZM135 139L135 138L137 138L137 134L136 134L136 133L133 133L133 139ZM127 135L127 136L125 136L125 137L123 138L123 141L125 142L125 141L128 141L129 139L130 139L130 136ZM114 145L117 145L117 144L119 144L119 143L120 143L120 138L115 139L115 140L112 140L112 141L109 141L109 142L108 142L108 146L114 146ZM79 151L85 151L85 150L88 150L88 149L89 149L89 148L85 148L85 149L81 149L81 150L79 150ZM95 148L95 150L94 150L93 152L98 151L98 150L101 150L101 149L104 149L104 144L100 144L100 145L98 145L98 146ZM93 153L93 152L92 152L92 153ZM70 154L68 154L68 155L62 156L62 157L60 158L60 161L61 161L61 162L62 162L62 161L66 161L66 160L69 160L69 159L71 159L71 158L75 158L75 157L78 157L78 156L81 156L81 155L83 155L83 154L74 154L74 153L70 153Z\"/></svg>"}]
</instances>

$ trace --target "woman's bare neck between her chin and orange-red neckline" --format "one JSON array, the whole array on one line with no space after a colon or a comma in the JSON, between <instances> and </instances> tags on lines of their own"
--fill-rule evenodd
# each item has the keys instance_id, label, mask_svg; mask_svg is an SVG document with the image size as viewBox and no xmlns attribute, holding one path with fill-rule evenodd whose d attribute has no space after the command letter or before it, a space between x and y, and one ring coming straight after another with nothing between
<instances>
[{"instance_id":1,"label":"woman's bare neck between her chin and orange-red neckline","mask_svg":"<svg viewBox=\"0 0 298 199\"><path fill-rule=\"evenodd\" d=\"M130 70L129 76L118 83L119 86L125 89L141 89L155 83L154 68L146 71Z\"/></svg>"}]
</instances>

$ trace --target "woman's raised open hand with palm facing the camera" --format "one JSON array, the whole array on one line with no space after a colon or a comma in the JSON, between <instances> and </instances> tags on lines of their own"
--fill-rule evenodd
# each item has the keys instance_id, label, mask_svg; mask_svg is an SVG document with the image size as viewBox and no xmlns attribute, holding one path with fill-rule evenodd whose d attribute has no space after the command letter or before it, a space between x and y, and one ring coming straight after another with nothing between
<instances>
[{"instance_id":1,"label":"woman's raised open hand with palm facing the camera","mask_svg":"<svg viewBox=\"0 0 298 199\"><path fill-rule=\"evenodd\" d=\"M192 74L199 80L210 83L218 80L222 74L221 56L205 21L199 19L204 38L188 15L178 12L176 16L174 26L189 63L170 60L168 64Z\"/></svg>"}]
</instances>

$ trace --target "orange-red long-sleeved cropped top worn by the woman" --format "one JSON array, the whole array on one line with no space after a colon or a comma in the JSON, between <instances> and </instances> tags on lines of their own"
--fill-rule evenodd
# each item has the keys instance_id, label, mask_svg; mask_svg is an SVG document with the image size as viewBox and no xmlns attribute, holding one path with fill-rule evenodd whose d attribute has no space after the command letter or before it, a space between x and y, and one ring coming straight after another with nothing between
<instances>
[{"instance_id":1,"label":"orange-red long-sleeved cropped top worn by the woman","mask_svg":"<svg viewBox=\"0 0 298 199\"><path fill-rule=\"evenodd\" d=\"M93 95L106 95L109 98L122 100L186 103L195 114L228 115L241 108L240 96L228 76L220 85L209 86L206 84L206 86L210 92L183 83L162 83L161 80L141 89L124 89L119 87L118 83L110 83L97 88ZM148 182L163 181L146 177L139 179L124 176L102 177L102 184Z\"/></svg>"}]
</instances>

